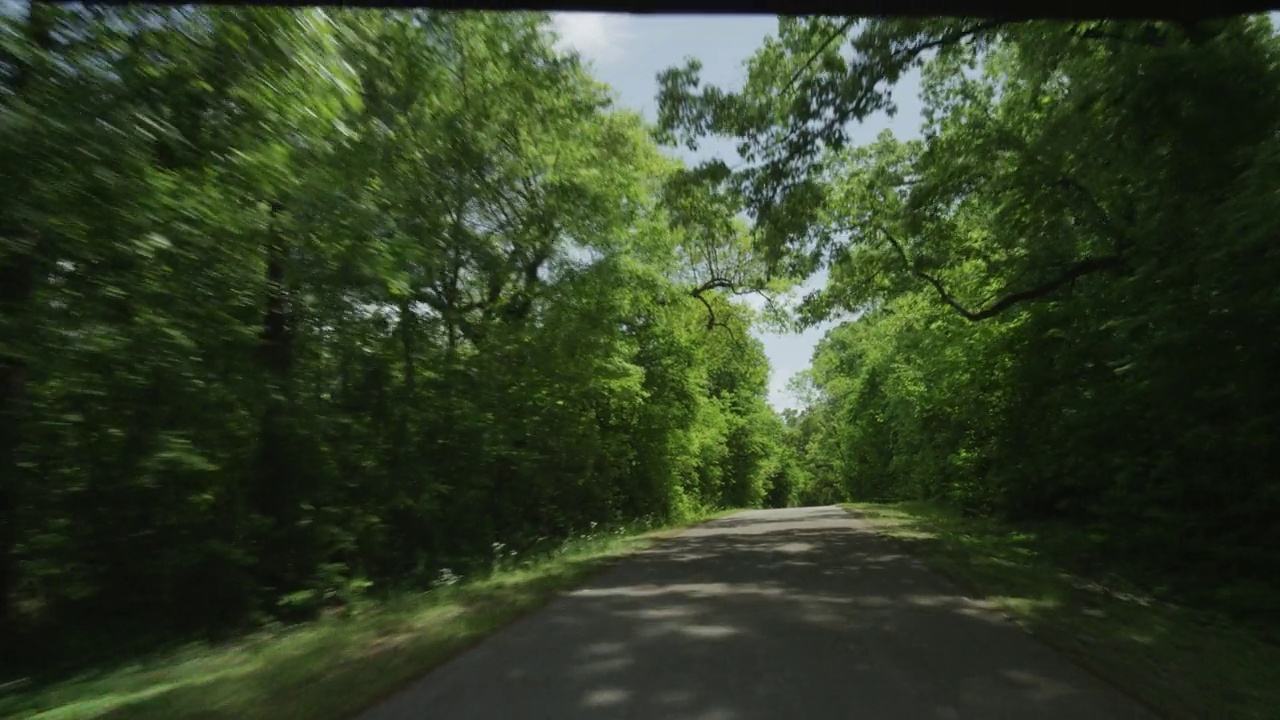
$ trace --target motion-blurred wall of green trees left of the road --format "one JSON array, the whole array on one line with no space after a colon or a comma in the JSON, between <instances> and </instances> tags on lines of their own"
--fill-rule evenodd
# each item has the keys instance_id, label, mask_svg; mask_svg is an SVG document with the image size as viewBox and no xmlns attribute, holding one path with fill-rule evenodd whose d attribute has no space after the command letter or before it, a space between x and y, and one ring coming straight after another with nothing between
<instances>
[{"instance_id":1,"label":"motion-blurred wall of green trees left of the road","mask_svg":"<svg viewBox=\"0 0 1280 720\"><path fill-rule=\"evenodd\" d=\"M6 673L790 502L783 286L547 15L23 4L0 53Z\"/></svg>"}]
</instances>

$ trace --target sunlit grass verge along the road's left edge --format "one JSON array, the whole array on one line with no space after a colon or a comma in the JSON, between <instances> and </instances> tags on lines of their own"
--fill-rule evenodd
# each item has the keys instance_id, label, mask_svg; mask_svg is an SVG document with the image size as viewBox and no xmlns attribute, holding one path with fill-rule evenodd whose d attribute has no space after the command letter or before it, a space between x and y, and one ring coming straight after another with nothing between
<instances>
[{"instance_id":1,"label":"sunlit grass verge along the road's left edge","mask_svg":"<svg viewBox=\"0 0 1280 720\"><path fill-rule=\"evenodd\" d=\"M0 697L9 720L344 720L617 560L689 525L576 537L489 577L361 607L224 647L193 644L127 667Z\"/></svg>"}]
</instances>

